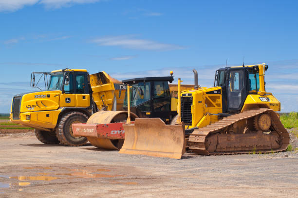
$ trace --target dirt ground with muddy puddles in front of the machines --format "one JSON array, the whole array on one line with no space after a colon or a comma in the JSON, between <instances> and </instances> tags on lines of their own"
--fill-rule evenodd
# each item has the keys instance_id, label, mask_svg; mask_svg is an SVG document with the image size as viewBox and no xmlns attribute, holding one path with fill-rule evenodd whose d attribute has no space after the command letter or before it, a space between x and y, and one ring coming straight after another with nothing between
<instances>
[{"instance_id":1,"label":"dirt ground with muddy puddles in front of the machines","mask_svg":"<svg viewBox=\"0 0 298 198\"><path fill-rule=\"evenodd\" d=\"M1 198L298 197L298 154L181 160L0 137ZM286 157L287 156L287 157Z\"/></svg>"}]
</instances>

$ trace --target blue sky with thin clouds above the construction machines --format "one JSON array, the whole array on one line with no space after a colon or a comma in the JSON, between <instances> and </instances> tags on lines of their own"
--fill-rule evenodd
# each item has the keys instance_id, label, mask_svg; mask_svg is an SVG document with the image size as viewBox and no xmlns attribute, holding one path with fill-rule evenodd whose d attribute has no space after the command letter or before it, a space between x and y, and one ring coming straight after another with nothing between
<instances>
[{"instance_id":1,"label":"blue sky with thin clouds above the construction machines","mask_svg":"<svg viewBox=\"0 0 298 198\"><path fill-rule=\"evenodd\" d=\"M266 63L266 89L298 111L294 0L0 0L0 113L32 71L86 68L123 80L168 75L212 86L217 68Z\"/></svg>"}]
</instances>

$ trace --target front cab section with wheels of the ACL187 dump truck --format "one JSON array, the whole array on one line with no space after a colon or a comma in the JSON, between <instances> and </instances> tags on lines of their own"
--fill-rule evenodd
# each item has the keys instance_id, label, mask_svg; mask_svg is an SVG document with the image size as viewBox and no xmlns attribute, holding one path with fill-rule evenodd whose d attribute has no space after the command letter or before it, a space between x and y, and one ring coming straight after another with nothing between
<instances>
[{"instance_id":1,"label":"front cab section with wheels of the ACL187 dump truck","mask_svg":"<svg viewBox=\"0 0 298 198\"><path fill-rule=\"evenodd\" d=\"M38 82L44 77L45 89ZM49 81L48 81L48 76ZM73 135L71 125L86 122L92 113L92 89L86 69L60 69L33 72L31 86L40 91L15 95L12 100L12 122L35 128L37 139L45 144L79 146L85 137Z\"/></svg>"}]
</instances>

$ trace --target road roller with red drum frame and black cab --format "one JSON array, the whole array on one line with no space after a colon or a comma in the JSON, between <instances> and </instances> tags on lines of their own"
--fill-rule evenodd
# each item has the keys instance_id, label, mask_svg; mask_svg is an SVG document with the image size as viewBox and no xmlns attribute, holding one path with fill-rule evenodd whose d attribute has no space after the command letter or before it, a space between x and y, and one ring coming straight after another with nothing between
<instances>
[{"instance_id":1,"label":"road roller with red drum frame and black cab","mask_svg":"<svg viewBox=\"0 0 298 198\"><path fill-rule=\"evenodd\" d=\"M73 124L74 134L87 137L89 142L98 148L120 149L125 139L122 125L126 123L129 116L132 121L138 117L152 117L162 120L162 123L175 123L178 86L169 84L173 80L172 76L123 80L127 87L123 110L96 112L91 115L86 124ZM193 87L193 85L183 85L182 89ZM182 139L182 144L183 141Z\"/></svg>"}]
</instances>

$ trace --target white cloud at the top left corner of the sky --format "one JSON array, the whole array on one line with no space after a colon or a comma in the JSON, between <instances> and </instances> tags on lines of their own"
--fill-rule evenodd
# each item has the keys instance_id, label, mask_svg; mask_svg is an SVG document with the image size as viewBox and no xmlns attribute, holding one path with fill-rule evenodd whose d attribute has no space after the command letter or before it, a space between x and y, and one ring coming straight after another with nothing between
<instances>
[{"instance_id":1,"label":"white cloud at the top left corner of the sky","mask_svg":"<svg viewBox=\"0 0 298 198\"><path fill-rule=\"evenodd\" d=\"M94 3L100 0L0 0L0 12L13 12L34 4L43 4L46 8L61 8L74 4Z\"/></svg>"}]
</instances>

